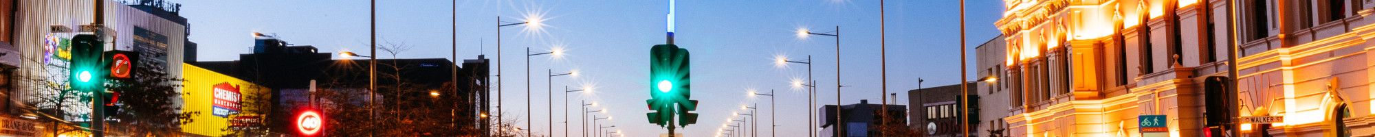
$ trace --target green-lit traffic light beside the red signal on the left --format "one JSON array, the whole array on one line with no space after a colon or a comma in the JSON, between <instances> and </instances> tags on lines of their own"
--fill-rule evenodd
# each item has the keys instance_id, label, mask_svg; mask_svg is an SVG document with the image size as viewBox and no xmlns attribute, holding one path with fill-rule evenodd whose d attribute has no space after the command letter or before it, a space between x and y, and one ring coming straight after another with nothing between
<instances>
[{"instance_id":1,"label":"green-lit traffic light beside the red signal on the left","mask_svg":"<svg viewBox=\"0 0 1375 137\"><path fill-rule=\"evenodd\" d=\"M72 62L67 63L70 75L67 84L76 90L104 90L104 73L100 64L100 52L104 45L94 34L77 34L72 37Z\"/></svg>"}]
</instances>

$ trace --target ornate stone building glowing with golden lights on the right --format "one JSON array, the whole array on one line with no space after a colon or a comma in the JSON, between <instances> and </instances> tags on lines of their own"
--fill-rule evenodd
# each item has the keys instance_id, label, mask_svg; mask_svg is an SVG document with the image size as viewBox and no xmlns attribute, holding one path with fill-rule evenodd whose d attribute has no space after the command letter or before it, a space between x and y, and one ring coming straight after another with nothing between
<instances>
[{"instance_id":1,"label":"ornate stone building glowing with golden lights on the right","mask_svg":"<svg viewBox=\"0 0 1375 137\"><path fill-rule=\"evenodd\" d=\"M1218 100L1235 105L1211 112L1283 116L1247 136L1375 134L1372 0L1004 1L1013 136L1137 137L1138 115L1166 115L1169 136L1200 137ZM1236 97L1206 92L1210 77Z\"/></svg>"}]
</instances>

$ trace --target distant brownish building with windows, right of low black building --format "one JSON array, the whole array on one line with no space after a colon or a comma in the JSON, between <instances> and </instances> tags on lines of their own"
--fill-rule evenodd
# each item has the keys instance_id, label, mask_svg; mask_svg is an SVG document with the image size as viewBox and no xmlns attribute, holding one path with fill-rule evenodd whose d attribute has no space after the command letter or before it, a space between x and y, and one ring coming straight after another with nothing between
<instances>
[{"instance_id":1,"label":"distant brownish building with windows, right of low black building","mask_svg":"<svg viewBox=\"0 0 1375 137\"><path fill-rule=\"evenodd\" d=\"M972 110L969 115L980 115L982 111L978 108L979 92L978 84L965 84L969 89L969 101L972 107L960 107L960 85L943 85L935 88L923 88L908 90L909 118L912 118L912 129L917 132L918 137L965 137L960 136L960 111ZM980 118L971 116L969 127L979 127ZM983 137L979 130L969 130L968 137Z\"/></svg>"}]
</instances>

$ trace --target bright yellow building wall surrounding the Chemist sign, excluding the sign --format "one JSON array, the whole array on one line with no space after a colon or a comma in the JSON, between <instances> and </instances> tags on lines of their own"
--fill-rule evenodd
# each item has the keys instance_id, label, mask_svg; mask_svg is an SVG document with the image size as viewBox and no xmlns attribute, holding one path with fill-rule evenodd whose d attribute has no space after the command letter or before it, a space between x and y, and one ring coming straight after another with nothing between
<instances>
[{"instance_id":1,"label":"bright yellow building wall surrounding the Chemist sign, excluding the sign","mask_svg":"<svg viewBox=\"0 0 1375 137\"><path fill-rule=\"evenodd\" d=\"M182 111L199 112L191 115L192 119L191 123L183 125L182 132L199 136L220 137L232 133L231 130L226 130L230 127L231 118L235 118L238 115L256 115L252 112L267 112L267 108L258 108L249 104L265 103L271 89L186 63L182 63L182 67L184 68L182 77L186 78L184 81L182 81L183 85ZM227 116L214 115L213 112L214 105L212 101L216 100L214 86L219 84L228 84L238 88L238 92L241 95L239 104L242 104L239 112L242 114L234 114ZM253 100L261 100L261 101L253 101Z\"/></svg>"}]
</instances>

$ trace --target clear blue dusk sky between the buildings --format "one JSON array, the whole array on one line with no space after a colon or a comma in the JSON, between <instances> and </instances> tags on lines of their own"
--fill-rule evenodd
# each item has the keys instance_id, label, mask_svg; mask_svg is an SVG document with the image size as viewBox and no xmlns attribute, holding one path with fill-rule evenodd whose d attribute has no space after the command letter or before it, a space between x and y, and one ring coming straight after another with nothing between
<instances>
[{"instance_id":1,"label":"clear blue dusk sky between the buildings","mask_svg":"<svg viewBox=\"0 0 1375 137\"><path fill-rule=\"evenodd\" d=\"M198 58L236 60L250 53L252 33L275 34L296 45L314 45L320 52L353 51L367 53L368 1L366 0L179 0L182 15L190 22L190 40L199 44ZM456 30L459 59L485 55L496 62L496 19L535 25L502 27L500 59L503 105L509 118L528 116L525 90L532 93L534 132L549 134L549 111L557 115L554 136L562 136L565 121L561 90L593 89L569 96L572 110L568 129L579 136L579 101L595 101L594 114L612 116L610 123L628 137L659 136L666 130L645 121L649 99L649 48L664 44L667 0L385 0L377 1L378 44L411 45L395 58L450 58L452 32ZM769 125L774 108L766 96L747 96L748 90L777 95L777 136L806 136L806 90L791 86L806 81L807 66L776 66L776 56L806 60L811 56L813 78L818 82L818 103L836 100L836 38L796 32L807 29L832 33L840 27L840 85L843 104L870 100L880 103L884 81L880 64L881 41L887 41L887 92L898 93L909 104L906 90L917 89L917 78L927 88L960 81L960 34L957 0L886 1L886 23L880 27L877 0L679 0L676 1L675 44L692 52L693 96L700 100L697 125L681 127L689 137L712 137L722 125L740 112L741 105L758 104L760 125ZM455 7L456 5L456 7ZM456 26L451 10L456 8ZM976 64L974 48L993 38L993 25L1001 18L1001 0L967 3L968 81ZM886 38L883 38L886 30ZM524 74L525 48L532 52L562 49L561 56L531 56L531 78ZM393 58L378 53L380 59ZM492 67L496 70L496 66ZM579 71L576 77L547 78L547 71ZM539 73L546 71L546 73ZM496 78L494 78L496 79ZM527 81L531 79L531 81ZM524 82L529 82L527 88ZM550 84L551 82L551 84ZM540 86L543 85L543 86ZM891 100L891 99L890 99ZM494 104L495 105L495 104ZM748 114L748 112L747 112ZM754 119L748 119L754 121ZM524 123L517 126L524 127ZM769 136L760 126L760 136Z\"/></svg>"}]
</instances>

